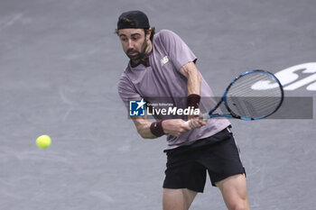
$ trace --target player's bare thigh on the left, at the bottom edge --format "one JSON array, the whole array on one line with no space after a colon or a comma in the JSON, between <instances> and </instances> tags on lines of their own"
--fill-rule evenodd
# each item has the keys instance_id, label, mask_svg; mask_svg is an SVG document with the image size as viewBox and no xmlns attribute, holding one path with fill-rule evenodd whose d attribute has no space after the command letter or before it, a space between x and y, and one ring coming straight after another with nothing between
<instances>
[{"instance_id":1,"label":"player's bare thigh on the left, at the bottom edge","mask_svg":"<svg viewBox=\"0 0 316 210\"><path fill-rule=\"evenodd\" d=\"M187 210L197 192L187 188L163 188L163 210Z\"/></svg>"}]
</instances>

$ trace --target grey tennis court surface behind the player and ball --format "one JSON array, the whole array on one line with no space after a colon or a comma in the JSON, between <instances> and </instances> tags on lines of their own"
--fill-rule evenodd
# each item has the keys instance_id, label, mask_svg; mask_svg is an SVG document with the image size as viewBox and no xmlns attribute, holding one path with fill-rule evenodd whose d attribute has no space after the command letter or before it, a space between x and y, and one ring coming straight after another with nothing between
<instances>
[{"instance_id":1,"label":"grey tennis court surface behind the player and ball","mask_svg":"<svg viewBox=\"0 0 316 210\"><path fill-rule=\"evenodd\" d=\"M1 0L0 209L162 208L165 139L142 140L117 95L128 61L114 34L122 12L142 10L156 31L177 32L216 96L246 70L287 69L297 78L285 96L315 104L315 8L312 0ZM315 209L315 114L287 114L231 121L251 209ZM46 150L35 144L42 134L51 136ZM226 207L208 180L191 209Z\"/></svg>"}]
</instances>

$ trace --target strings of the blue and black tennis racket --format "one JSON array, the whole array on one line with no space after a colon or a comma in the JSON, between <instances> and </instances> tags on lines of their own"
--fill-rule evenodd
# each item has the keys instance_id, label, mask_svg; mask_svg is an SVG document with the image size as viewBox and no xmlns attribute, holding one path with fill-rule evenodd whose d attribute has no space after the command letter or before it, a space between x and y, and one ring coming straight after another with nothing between
<instances>
[{"instance_id":1,"label":"strings of the blue and black tennis racket","mask_svg":"<svg viewBox=\"0 0 316 210\"><path fill-rule=\"evenodd\" d=\"M274 113L282 102L282 89L254 89L256 82L275 84L272 76L266 73L251 73L240 78L229 87L227 104L230 111L238 116L258 118Z\"/></svg>"}]
</instances>

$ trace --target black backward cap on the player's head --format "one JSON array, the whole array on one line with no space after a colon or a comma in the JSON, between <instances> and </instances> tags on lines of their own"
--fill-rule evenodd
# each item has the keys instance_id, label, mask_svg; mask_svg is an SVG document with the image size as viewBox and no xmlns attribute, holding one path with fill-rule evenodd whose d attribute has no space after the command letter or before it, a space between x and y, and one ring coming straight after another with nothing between
<instances>
[{"instance_id":1,"label":"black backward cap on the player's head","mask_svg":"<svg viewBox=\"0 0 316 210\"><path fill-rule=\"evenodd\" d=\"M128 11L118 17L117 30L119 29L149 29L147 15L141 11Z\"/></svg>"}]
</instances>

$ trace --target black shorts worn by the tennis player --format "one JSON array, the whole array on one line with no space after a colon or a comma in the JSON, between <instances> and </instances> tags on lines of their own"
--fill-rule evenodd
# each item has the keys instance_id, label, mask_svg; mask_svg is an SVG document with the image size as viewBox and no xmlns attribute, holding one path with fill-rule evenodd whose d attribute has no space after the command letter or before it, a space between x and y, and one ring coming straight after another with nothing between
<instances>
[{"instance_id":1,"label":"black shorts worn by the tennis player","mask_svg":"<svg viewBox=\"0 0 316 210\"><path fill-rule=\"evenodd\" d=\"M164 188L189 188L203 192L206 174L213 186L236 174L246 174L233 134L225 129L188 146L165 151Z\"/></svg>"}]
</instances>

